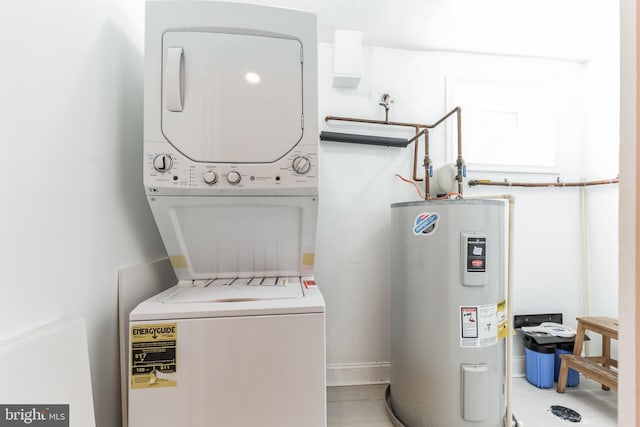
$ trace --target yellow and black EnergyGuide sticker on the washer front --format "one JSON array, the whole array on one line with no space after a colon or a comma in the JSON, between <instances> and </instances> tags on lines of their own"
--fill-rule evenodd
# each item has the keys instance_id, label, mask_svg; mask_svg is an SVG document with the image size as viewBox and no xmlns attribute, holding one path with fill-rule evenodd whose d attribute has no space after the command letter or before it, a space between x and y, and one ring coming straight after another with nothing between
<instances>
[{"instance_id":1,"label":"yellow and black EnergyGuide sticker on the washer front","mask_svg":"<svg viewBox=\"0 0 640 427\"><path fill-rule=\"evenodd\" d=\"M131 388L175 387L178 324L131 327Z\"/></svg>"}]
</instances>

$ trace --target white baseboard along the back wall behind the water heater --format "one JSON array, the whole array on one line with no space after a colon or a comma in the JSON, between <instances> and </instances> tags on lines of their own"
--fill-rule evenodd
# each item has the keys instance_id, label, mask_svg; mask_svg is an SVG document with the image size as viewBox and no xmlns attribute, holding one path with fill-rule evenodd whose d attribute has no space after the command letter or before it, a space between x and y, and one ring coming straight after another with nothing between
<instances>
[{"instance_id":1,"label":"white baseboard along the back wall behind the water heater","mask_svg":"<svg viewBox=\"0 0 640 427\"><path fill-rule=\"evenodd\" d=\"M334 363L327 365L327 386L350 386L366 384L385 384L389 382L391 363ZM524 377L526 365L524 356L514 356L512 377Z\"/></svg>"}]
</instances>

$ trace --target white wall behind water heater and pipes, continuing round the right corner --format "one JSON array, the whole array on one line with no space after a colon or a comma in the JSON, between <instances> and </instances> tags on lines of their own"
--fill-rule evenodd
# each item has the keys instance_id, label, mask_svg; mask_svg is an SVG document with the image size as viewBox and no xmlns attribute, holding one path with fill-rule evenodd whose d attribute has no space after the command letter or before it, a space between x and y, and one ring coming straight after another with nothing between
<instances>
[{"instance_id":1,"label":"white wall behind water heater and pipes, continuing round the right corner","mask_svg":"<svg viewBox=\"0 0 640 427\"><path fill-rule=\"evenodd\" d=\"M602 78L610 77L604 70L596 74L588 65L570 61L365 47L363 79L358 89L350 90L332 87L332 45L321 44L319 62L323 118L383 119L384 111L377 104L383 93L390 93L395 100L391 120L432 123L446 112L447 75L548 87L560 117L556 160L561 179L613 178L617 174L616 100L605 96L617 86L615 79ZM616 64L612 69L615 73ZM599 89L591 94L594 86ZM606 120L597 131L590 128L588 117L603 112ZM335 122L323 123L323 127L352 132L375 129ZM385 129L375 132L388 133ZM610 135L611 144L602 144L603 133ZM431 141L434 162L441 165L446 151L443 129L432 132ZM412 151L321 142L316 276L327 300L330 369L350 371L371 364L382 366L389 360L389 204L418 199L410 185L394 176L411 175ZM587 159L602 159L603 153L613 164L605 161L603 167L601 161L598 168L590 168ZM548 181L556 175L471 172L470 177ZM508 191L517 197L514 312L562 312L565 321L575 326L575 317L584 314L580 190L474 187L465 191L468 195ZM590 310L593 315L615 315L617 187L588 189L586 194L587 213L593 218L587 227L592 257L588 272L595 282ZM516 355L521 352L516 348ZM330 382L332 378L341 382L345 377L330 375Z\"/></svg>"}]
</instances>

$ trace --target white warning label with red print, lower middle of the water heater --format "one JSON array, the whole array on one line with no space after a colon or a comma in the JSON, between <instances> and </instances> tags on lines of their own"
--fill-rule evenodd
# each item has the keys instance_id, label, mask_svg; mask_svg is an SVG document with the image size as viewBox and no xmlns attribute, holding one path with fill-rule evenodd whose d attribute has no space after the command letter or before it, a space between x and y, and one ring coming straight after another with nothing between
<instances>
[{"instance_id":1,"label":"white warning label with red print, lower middle of the water heater","mask_svg":"<svg viewBox=\"0 0 640 427\"><path fill-rule=\"evenodd\" d=\"M497 342L497 304L460 307L460 347L489 347Z\"/></svg>"}]
</instances>

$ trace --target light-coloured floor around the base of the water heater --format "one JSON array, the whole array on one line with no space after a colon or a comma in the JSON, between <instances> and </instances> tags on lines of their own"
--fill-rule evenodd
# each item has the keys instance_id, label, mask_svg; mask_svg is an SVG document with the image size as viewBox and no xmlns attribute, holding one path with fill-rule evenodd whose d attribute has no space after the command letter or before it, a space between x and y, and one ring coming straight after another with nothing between
<instances>
[{"instance_id":1,"label":"light-coloured floor around the base of the water heater","mask_svg":"<svg viewBox=\"0 0 640 427\"><path fill-rule=\"evenodd\" d=\"M386 387L386 384L329 387L328 427L393 427L384 404ZM551 405L577 411L582 421L572 423L556 417L549 410ZM525 378L513 379L513 413L522 427L615 427L617 409L616 392L603 391L600 384L584 377L578 387L567 388L564 394L556 393L555 388L534 387Z\"/></svg>"}]
</instances>

